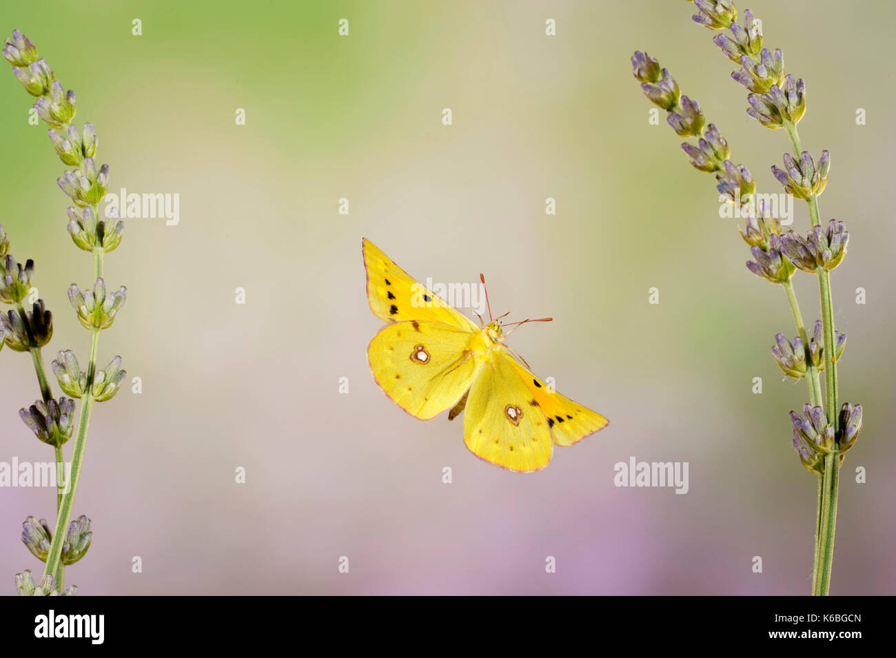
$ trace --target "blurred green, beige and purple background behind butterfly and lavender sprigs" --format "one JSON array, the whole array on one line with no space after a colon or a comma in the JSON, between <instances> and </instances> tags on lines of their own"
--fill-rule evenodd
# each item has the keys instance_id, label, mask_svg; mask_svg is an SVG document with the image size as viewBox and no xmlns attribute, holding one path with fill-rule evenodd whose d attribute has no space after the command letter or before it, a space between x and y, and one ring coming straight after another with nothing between
<instances>
[{"instance_id":1,"label":"blurred green, beige and purple background behind butterfly and lavender sprigs","mask_svg":"<svg viewBox=\"0 0 896 658\"><path fill-rule=\"evenodd\" d=\"M831 593L894 594L896 91L881 76L896 6L749 8L765 45L806 79L804 146L832 155L823 219L850 232L832 276L849 335L840 397L863 404L866 427L844 465ZM126 219L106 261L108 284L126 285L128 299L101 335L100 361L122 355L142 394L124 389L94 411L74 508L92 518L94 541L67 582L83 594L807 594L816 482L788 419L806 388L783 380L769 352L775 333L795 333L785 295L745 269L712 177L688 165L662 117L649 124L629 64L635 49L659 57L732 158L778 192L769 167L786 135L745 114L745 90L693 9L4 6L4 32L24 31L76 90L110 189L180 195L177 226ZM4 80L0 222L17 259L37 262L35 285L55 312L45 358L73 348L86 360L89 335L65 290L90 285L91 262L66 235L55 184L65 167L46 127L28 123L30 97L11 73ZM808 225L805 204L796 224ZM366 365L381 323L366 305L362 236L419 279L485 272L497 312L553 316L511 344L610 427L518 475L473 457L460 423L403 414ZM648 303L653 286L659 305ZM796 286L811 323L814 280L797 273ZM0 363L0 460L51 458L17 417L39 394L30 360L4 350ZM616 488L613 465L631 456L689 462L690 491ZM245 484L234 483L237 466ZM857 466L867 483L855 483ZM19 525L52 518L54 496L0 496L11 594L15 572L38 568Z\"/></svg>"}]
</instances>

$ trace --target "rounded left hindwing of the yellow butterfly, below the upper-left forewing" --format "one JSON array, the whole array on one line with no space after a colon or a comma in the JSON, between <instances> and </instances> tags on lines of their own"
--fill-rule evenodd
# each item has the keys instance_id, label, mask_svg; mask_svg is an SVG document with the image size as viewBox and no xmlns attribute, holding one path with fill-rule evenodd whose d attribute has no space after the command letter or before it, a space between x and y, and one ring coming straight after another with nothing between
<instances>
[{"instance_id":1,"label":"rounded left hindwing of the yellow butterfly, below the upper-left forewing","mask_svg":"<svg viewBox=\"0 0 896 658\"><path fill-rule=\"evenodd\" d=\"M470 336L440 322L386 325L367 346L370 370L398 406L428 420L456 405L470 389L477 370Z\"/></svg>"}]
</instances>

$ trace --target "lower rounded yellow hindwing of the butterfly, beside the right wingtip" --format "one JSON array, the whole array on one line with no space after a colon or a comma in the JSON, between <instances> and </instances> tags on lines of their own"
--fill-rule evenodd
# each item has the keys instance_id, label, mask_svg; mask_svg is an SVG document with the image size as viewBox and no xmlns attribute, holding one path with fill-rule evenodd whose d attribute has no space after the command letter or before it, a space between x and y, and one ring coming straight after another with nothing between
<instances>
[{"instance_id":1,"label":"lower rounded yellow hindwing of the butterfly, beside the right wingtip","mask_svg":"<svg viewBox=\"0 0 896 658\"><path fill-rule=\"evenodd\" d=\"M554 444L544 414L512 363L500 347L479 369L463 412L463 438L478 457L529 473L547 466Z\"/></svg>"}]
</instances>

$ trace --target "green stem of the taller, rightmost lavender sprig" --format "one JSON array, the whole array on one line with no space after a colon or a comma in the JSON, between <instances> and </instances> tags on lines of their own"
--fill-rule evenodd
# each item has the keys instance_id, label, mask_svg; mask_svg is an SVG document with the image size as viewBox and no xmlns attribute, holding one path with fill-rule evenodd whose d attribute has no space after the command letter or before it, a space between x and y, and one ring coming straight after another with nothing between
<instances>
[{"instance_id":1,"label":"green stem of the taller, rightmost lavender sprig","mask_svg":"<svg viewBox=\"0 0 896 658\"><path fill-rule=\"evenodd\" d=\"M803 147L799 141L797 125L785 121L784 128L790 138L795 157L799 158ZM813 194L808 199L809 219L812 226L821 226L821 213L818 209L818 196ZM833 424L834 432L838 431L837 414L837 365L834 355L834 322L833 303L831 300L830 272L819 268L818 293L822 306L822 325L824 331L824 409L828 422ZM834 533L837 528L837 495L840 486L840 452L835 444L831 454L824 458L824 474L818 494L817 531L815 534L815 554L812 578L812 594L826 596L831 585L831 566L834 553Z\"/></svg>"}]
</instances>

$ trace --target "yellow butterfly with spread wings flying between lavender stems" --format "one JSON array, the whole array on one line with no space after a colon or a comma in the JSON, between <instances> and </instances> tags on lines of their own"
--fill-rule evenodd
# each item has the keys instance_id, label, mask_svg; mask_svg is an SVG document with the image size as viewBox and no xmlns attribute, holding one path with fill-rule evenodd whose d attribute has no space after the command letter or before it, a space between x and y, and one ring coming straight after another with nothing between
<instances>
[{"instance_id":1,"label":"yellow butterfly with spread wings flying between lavender stems","mask_svg":"<svg viewBox=\"0 0 896 658\"><path fill-rule=\"evenodd\" d=\"M363 251L370 310L390 323L370 341L367 358L376 383L402 409L421 420L451 409L453 420L466 408L467 448L517 473L547 466L555 443L571 446L607 427L602 415L548 392L514 357L490 306L490 321L478 327L366 239Z\"/></svg>"}]
</instances>

